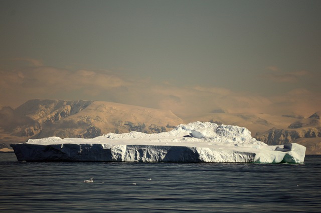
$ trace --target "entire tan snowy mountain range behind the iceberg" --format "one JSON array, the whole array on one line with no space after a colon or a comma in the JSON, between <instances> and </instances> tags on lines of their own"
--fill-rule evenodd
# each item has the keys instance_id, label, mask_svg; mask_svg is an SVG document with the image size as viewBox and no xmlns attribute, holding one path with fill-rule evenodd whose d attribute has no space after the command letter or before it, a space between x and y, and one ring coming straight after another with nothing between
<instances>
[{"instance_id":1,"label":"entire tan snowy mountain range behind the iceberg","mask_svg":"<svg viewBox=\"0 0 321 213\"><path fill-rule=\"evenodd\" d=\"M244 126L253 137L267 144L297 142L307 147L306 154L321 154L320 116L321 111L304 118L221 110L181 118L170 110L108 101L32 99L15 109L0 108L0 142L9 144L49 136L92 138L108 132L158 133L199 120Z\"/></svg>"}]
</instances>

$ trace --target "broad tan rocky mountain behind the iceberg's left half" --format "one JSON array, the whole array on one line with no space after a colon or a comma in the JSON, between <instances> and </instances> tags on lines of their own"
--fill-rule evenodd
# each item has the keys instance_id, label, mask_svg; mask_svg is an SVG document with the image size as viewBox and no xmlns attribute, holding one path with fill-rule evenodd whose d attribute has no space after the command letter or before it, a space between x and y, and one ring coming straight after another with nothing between
<instances>
[{"instance_id":1,"label":"broad tan rocky mountain behind the iceberg's left half","mask_svg":"<svg viewBox=\"0 0 321 213\"><path fill-rule=\"evenodd\" d=\"M182 123L171 111L106 101L29 100L0 110L2 139L92 138L108 132L162 132Z\"/></svg>"}]
</instances>

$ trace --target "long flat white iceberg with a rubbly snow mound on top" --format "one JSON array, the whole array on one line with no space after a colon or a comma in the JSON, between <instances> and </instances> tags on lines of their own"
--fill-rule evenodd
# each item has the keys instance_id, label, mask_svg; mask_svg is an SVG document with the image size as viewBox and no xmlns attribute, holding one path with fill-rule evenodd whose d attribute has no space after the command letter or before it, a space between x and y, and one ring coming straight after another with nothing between
<instances>
[{"instance_id":1,"label":"long flat white iceberg with a rubbly snow mound on top","mask_svg":"<svg viewBox=\"0 0 321 213\"><path fill-rule=\"evenodd\" d=\"M200 121L161 133L53 136L10 145L19 161L303 163L306 149L297 143L267 145L245 127Z\"/></svg>"}]
</instances>

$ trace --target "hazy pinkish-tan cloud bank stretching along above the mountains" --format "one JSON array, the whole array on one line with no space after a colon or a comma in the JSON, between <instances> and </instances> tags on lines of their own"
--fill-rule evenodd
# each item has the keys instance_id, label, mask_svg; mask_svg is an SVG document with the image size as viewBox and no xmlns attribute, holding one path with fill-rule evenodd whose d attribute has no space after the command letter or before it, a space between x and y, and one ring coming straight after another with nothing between
<instances>
[{"instance_id":1,"label":"hazy pinkish-tan cloud bank stretching along above the mountains","mask_svg":"<svg viewBox=\"0 0 321 213\"><path fill-rule=\"evenodd\" d=\"M310 73L281 74L277 71L269 74L282 75L286 79L287 75L300 77ZM320 110L317 107L321 105L321 95L306 88L264 96L215 86L178 86L148 77L129 77L119 70L69 70L49 66L0 70L0 104L16 107L34 98L113 101L172 110L182 118L203 115L215 109L228 113L308 115Z\"/></svg>"}]
</instances>

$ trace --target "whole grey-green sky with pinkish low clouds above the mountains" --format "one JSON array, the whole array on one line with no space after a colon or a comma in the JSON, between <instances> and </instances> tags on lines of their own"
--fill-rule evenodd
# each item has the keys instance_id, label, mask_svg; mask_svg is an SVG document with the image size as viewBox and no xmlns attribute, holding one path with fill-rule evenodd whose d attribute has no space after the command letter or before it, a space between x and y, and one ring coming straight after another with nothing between
<instances>
[{"instance_id":1,"label":"whole grey-green sky with pinkish low clouds above the mountains","mask_svg":"<svg viewBox=\"0 0 321 213\"><path fill-rule=\"evenodd\" d=\"M320 0L1 0L0 105L321 110Z\"/></svg>"}]
</instances>

